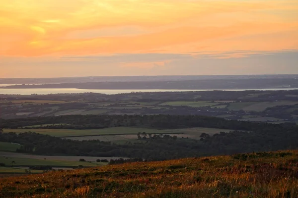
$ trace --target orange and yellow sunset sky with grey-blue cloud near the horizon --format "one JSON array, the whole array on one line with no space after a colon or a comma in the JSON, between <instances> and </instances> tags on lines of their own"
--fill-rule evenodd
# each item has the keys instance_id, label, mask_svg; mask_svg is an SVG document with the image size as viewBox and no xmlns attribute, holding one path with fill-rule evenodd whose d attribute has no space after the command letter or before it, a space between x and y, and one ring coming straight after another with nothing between
<instances>
[{"instance_id":1,"label":"orange and yellow sunset sky with grey-blue cloud near the horizon","mask_svg":"<svg viewBox=\"0 0 298 198\"><path fill-rule=\"evenodd\" d=\"M0 0L0 78L298 74L298 0Z\"/></svg>"}]
</instances>

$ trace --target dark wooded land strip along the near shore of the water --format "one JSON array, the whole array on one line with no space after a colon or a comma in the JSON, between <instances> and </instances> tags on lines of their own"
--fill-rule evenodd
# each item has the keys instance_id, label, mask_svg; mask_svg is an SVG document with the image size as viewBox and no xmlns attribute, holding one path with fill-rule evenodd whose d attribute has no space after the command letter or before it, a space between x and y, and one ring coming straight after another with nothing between
<instances>
[{"instance_id":1,"label":"dark wooded land strip along the near shore of the water","mask_svg":"<svg viewBox=\"0 0 298 198\"><path fill-rule=\"evenodd\" d=\"M91 90L92 92L92 90ZM256 95L255 97L251 97ZM49 95L0 95L0 100L64 100L64 101L212 101L212 100L242 100L242 101L275 101L298 100L298 90L281 91L200 91L200 92L154 92L105 95L96 93L83 94L49 94Z\"/></svg>"}]
</instances>

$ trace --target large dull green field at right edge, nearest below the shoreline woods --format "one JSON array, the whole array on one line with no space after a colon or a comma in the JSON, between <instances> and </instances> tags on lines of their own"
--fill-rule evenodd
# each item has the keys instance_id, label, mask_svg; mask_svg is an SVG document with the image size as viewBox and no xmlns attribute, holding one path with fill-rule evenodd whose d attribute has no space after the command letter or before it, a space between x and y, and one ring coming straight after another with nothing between
<instances>
[{"instance_id":1,"label":"large dull green field at right edge, nearest below the shoreline woods","mask_svg":"<svg viewBox=\"0 0 298 198\"><path fill-rule=\"evenodd\" d=\"M228 105L229 110L264 111L266 108L281 105L296 105L298 101L274 101L274 102L232 102Z\"/></svg>"}]
</instances>

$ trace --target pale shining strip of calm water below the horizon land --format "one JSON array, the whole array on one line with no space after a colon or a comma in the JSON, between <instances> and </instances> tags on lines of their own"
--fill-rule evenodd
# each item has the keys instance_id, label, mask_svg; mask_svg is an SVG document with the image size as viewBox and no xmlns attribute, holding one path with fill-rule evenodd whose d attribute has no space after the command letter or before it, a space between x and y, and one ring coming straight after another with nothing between
<instances>
[{"instance_id":1,"label":"pale shining strip of calm water below the horizon land","mask_svg":"<svg viewBox=\"0 0 298 198\"><path fill-rule=\"evenodd\" d=\"M252 89L260 91L278 91L278 90L298 90L294 89ZM0 89L0 94L19 94L19 95L31 95L31 94L79 94L79 93L100 93L100 94L127 94L132 92L198 92L198 91L214 91L214 90L79 90L75 88L70 89ZM246 90L222 90L222 91L246 91Z\"/></svg>"}]
</instances>

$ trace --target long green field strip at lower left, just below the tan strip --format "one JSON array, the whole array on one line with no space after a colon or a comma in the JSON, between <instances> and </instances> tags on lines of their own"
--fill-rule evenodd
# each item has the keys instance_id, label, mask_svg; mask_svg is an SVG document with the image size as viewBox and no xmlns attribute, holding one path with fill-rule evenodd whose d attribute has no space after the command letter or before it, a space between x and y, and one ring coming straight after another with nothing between
<instances>
[{"instance_id":1,"label":"long green field strip at lower left, just below the tan strip","mask_svg":"<svg viewBox=\"0 0 298 198\"><path fill-rule=\"evenodd\" d=\"M83 158L83 157L82 157ZM63 160L49 160L49 159L31 159L21 157L0 156L0 161L6 166L60 166L60 167L76 167L83 166L99 166L104 165L104 162L80 162L80 161L63 161ZM11 164L14 161L14 164Z\"/></svg>"}]
</instances>

